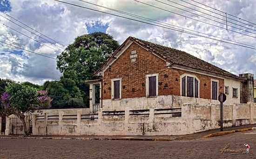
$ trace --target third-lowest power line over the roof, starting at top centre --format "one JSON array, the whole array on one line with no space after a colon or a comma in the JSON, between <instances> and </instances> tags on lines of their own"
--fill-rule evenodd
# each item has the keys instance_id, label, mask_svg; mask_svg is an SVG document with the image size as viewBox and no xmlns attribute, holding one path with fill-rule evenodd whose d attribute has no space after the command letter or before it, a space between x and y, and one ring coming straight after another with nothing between
<instances>
[{"instance_id":1,"label":"third-lowest power line over the roof, starting at top centre","mask_svg":"<svg viewBox=\"0 0 256 159\"><path fill-rule=\"evenodd\" d=\"M147 3L144 3L144 2L138 1L138 0L134 0L134 1L136 1L136 2L138 2L138 3L141 3L141 4L144 4L144 5L147 5L147 6L155 7L155 8L157 8L157 9L160 9L160 10L163 10L163 11L166 11L166 12L169 12L169 13L173 13L173 14L182 16L182 17L184 17L184 18L189 18L189 19L192 19L192 20L195 20L195 21L198 21L198 22L202 22L202 23L205 23L205 24L208 24L208 25L212 25L212 26L216 26L216 27L218 27L218 28L221 28L221 29L226 30L226 28L224 28L224 27L222 27L222 26L218 26L218 25L214 25L214 24L211 24L211 23L202 21L202 20L194 19L194 18L185 16L185 15L182 15L182 14L180 14L180 13L175 13L175 12L172 12L172 11L168 11L168 10L162 9L162 8L160 8L160 7L158 7L158 6L153 6L153 5L150 5L150 4L147 4ZM226 24L225 24L225 25L226 25ZM236 31L234 31L234 30L229 30L229 31L231 31L231 32L236 32ZM248 32L248 31L247 31L247 32ZM256 38L256 37L254 37L254 36L251 36L251 35L248 35L248 34L244 34L244 33L242 33L242 32L236 32L236 33L242 34L242 35L245 35L245 36L248 36L248 37Z\"/></svg>"}]
</instances>

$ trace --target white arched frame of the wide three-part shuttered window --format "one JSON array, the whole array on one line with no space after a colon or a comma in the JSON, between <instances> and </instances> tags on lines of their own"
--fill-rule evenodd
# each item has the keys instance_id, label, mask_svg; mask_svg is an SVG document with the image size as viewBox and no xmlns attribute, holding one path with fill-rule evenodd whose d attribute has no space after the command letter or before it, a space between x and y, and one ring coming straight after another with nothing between
<instances>
[{"instance_id":1,"label":"white arched frame of the wide three-part shuttered window","mask_svg":"<svg viewBox=\"0 0 256 159\"><path fill-rule=\"evenodd\" d=\"M190 98L200 98L200 80L199 78L197 78L197 76L195 75L191 75L191 74L183 74L182 76L180 76L180 93L181 93L181 96L182 96L182 78L185 77L185 96L184 97L189 97L188 96L188 83L187 83L187 80L188 80L188 76L189 77L193 77L193 97L190 97ZM198 97L195 97L195 79L197 80L198 82Z\"/></svg>"}]
</instances>

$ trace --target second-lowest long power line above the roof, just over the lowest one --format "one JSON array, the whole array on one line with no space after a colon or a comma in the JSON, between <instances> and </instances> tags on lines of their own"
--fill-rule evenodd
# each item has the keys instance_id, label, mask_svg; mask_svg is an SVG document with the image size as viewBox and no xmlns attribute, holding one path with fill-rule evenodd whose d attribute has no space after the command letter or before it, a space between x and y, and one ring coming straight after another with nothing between
<instances>
[{"instance_id":1,"label":"second-lowest long power line above the roof, just over the lowest one","mask_svg":"<svg viewBox=\"0 0 256 159\"><path fill-rule=\"evenodd\" d=\"M178 28L182 28L182 29L185 29L185 30L192 31L192 32L197 32L197 33L200 33L200 34L208 35L208 36L211 36L211 37L221 38L221 37L217 37L217 36L214 36L214 35L210 35L210 34L198 32L198 31L191 30L191 29L187 29L187 28L184 28L184 27L181 27L181 26L177 26L177 25L172 25L172 24L169 24L169 23L165 23L165 22L162 22L162 21L159 21L159 20L146 18L146 17L140 16L140 15L135 15L135 14L133 14L133 13L128 13L128 12L120 11L120 10L117 10L117 9L109 8L109 7L106 7L106 6L97 5L97 4L88 2L88 1L84 1L84 0L79 0L79 1L82 1L82 2L87 3L87 4L90 4L90 5L99 6L99 7L102 7L102 8L111 10L111 11L115 11L115 12L118 12L118 13L122 13L122 14L131 16L131 17L135 17L135 18L138 18L138 19L147 20L147 21L150 21L150 22L153 22L153 23L156 23L156 22L157 22L156 24L162 25L161 23L163 23L163 24L167 24L167 25L164 25L164 26L171 25L171 26L175 26L175 27L178 27ZM156 21L156 22L155 22L155 21ZM170 26L168 26L168 27L170 27ZM174 27L170 27L170 28L174 28ZM175 29L176 29L176 28L175 28ZM240 43L240 42L236 42L236 41L229 40L229 39L226 39L226 38L222 38L222 39L223 39L223 40L227 40L227 41L231 41L231 42L234 42L234 43L237 43L237 44L241 44L241 45L247 45L247 44ZM255 48L256 48L256 46L252 46L252 45L247 45L247 46L249 46L249 47L255 47Z\"/></svg>"}]
</instances>

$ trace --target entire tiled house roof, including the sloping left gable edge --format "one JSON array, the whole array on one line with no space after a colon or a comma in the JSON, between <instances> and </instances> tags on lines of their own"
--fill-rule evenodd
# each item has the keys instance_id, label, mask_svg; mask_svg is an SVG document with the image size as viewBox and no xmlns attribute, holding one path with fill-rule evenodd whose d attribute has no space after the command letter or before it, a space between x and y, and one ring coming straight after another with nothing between
<instances>
[{"instance_id":1,"label":"entire tiled house roof, including the sloping left gable edge","mask_svg":"<svg viewBox=\"0 0 256 159\"><path fill-rule=\"evenodd\" d=\"M170 64L182 65L182 66L190 67L193 69L203 70L203 71L211 72L214 74L219 74L222 76L228 76L228 77L241 80L239 76L236 76L226 70L222 70L221 68L213 64L210 64L206 61L203 61L200 58L194 57L185 51L180 51L170 47L158 45L158 44L151 43L151 42L134 38L134 37L127 38L125 42L113 53L111 57L108 58L108 60L101 66L101 68L96 73L99 73L100 71L105 70L103 68L106 67L106 65L112 64L113 62L112 63L110 62L111 59L112 61L113 61L113 58L115 60L117 58L117 55L120 54L122 48L125 45L128 45L129 43L132 43L132 42L137 43L141 47L152 52L153 54L162 58L163 60L167 61Z\"/></svg>"}]
</instances>

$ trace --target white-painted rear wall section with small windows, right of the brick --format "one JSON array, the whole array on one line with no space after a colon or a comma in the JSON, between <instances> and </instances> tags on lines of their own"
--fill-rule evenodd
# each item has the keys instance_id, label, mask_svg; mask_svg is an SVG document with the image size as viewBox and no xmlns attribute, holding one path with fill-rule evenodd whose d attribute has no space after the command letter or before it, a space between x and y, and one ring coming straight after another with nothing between
<instances>
[{"instance_id":1,"label":"white-painted rear wall section with small windows, right of the brick","mask_svg":"<svg viewBox=\"0 0 256 159\"><path fill-rule=\"evenodd\" d=\"M240 103L241 82L225 78L224 85L229 86L229 95L227 95L227 100L226 100L226 102L224 102L224 104ZM233 88L238 89L238 98L233 98ZM224 88L224 90L225 90L225 88Z\"/></svg>"}]
</instances>

